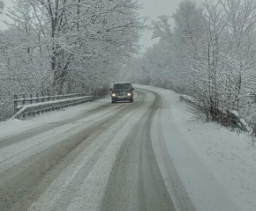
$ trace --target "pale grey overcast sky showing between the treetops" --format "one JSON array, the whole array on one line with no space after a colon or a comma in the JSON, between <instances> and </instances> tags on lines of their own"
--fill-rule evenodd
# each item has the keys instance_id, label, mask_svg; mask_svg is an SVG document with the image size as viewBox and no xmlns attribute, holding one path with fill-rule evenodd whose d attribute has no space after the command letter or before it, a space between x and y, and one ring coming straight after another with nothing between
<instances>
[{"instance_id":1,"label":"pale grey overcast sky showing between the treetops","mask_svg":"<svg viewBox=\"0 0 256 211\"><path fill-rule=\"evenodd\" d=\"M156 19L158 16L161 15L171 15L173 12L176 11L178 4L182 0L139 0L139 3L143 4L143 9L139 11L141 16L145 16L150 18L147 24L150 24L152 20ZM194 0L197 3L201 3L203 0ZM5 10L7 7L11 7L12 3L11 0L4 0ZM0 20L3 21L6 19L6 16L0 15ZM5 29L6 26L0 21L0 29ZM142 35L140 40L140 45L142 47L142 51L146 49L146 47L150 47L154 44L156 40L151 40L152 33L145 32Z\"/></svg>"}]
</instances>

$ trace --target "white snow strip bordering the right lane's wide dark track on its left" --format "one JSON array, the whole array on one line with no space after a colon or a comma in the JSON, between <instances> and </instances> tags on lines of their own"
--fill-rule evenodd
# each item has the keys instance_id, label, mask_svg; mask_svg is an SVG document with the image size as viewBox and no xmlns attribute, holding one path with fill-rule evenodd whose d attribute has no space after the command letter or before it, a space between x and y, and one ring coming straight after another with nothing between
<instances>
[{"instance_id":1,"label":"white snow strip bordering the right lane's wide dark track on its left","mask_svg":"<svg viewBox=\"0 0 256 211\"><path fill-rule=\"evenodd\" d=\"M125 137L130 134L132 127L134 127L144 113L147 113L147 110L154 101L154 95L147 92L147 97L145 105L135 111L132 117L118 131L112 142L109 143L108 148L104 150L102 156L94 164L93 170L84 179L79 191L75 194L66 210L100 210L104 190L108 184L109 175L117 153Z\"/></svg>"}]
</instances>

